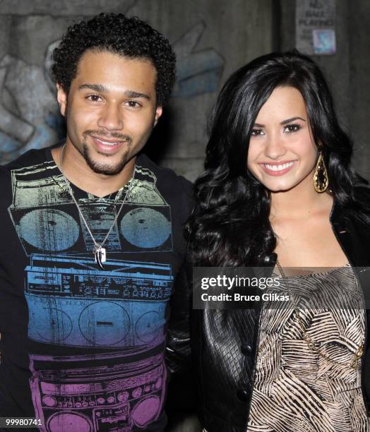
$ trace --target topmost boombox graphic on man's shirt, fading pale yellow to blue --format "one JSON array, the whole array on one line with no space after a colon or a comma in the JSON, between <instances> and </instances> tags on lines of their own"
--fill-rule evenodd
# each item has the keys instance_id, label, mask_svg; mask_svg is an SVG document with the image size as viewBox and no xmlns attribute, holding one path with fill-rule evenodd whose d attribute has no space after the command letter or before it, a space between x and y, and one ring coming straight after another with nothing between
<instances>
[{"instance_id":1,"label":"topmost boombox graphic on man's shirt, fading pale yellow to blue","mask_svg":"<svg viewBox=\"0 0 370 432\"><path fill-rule=\"evenodd\" d=\"M81 253L93 251L93 239L80 217L64 177L54 162L12 172L13 203L9 208L25 253ZM54 169L52 169L54 168ZM54 175L45 176L47 170ZM172 251L171 210L155 186L149 169L136 167L129 194L105 247L109 253ZM112 227L125 188L114 199L79 200L97 243Z\"/></svg>"}]
</instances>

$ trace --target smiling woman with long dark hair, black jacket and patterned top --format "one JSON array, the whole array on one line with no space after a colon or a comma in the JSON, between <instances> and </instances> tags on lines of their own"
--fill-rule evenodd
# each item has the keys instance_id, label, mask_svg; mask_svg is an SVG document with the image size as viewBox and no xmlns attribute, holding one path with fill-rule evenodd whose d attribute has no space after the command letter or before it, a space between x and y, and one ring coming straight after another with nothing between
<instances>
[{"instance_id":1,"label":"smiling woman with long dark hair, black jacket and patterned top","mask_svg":"<svg viewBox=\"0 0 370 432\"><path fill-rule=\"evenodd\" d=\"M187 225L193 265L268 266L290 301L194 311L203 427L370 430L359 307L370 297L359 270L370 265L370 194L325 78L297 51L259 57L227 80L210 126ZM287 270L318 267L331 269ZM316 294L327 302L312 308Z\"/></svg>"}]
</instances>

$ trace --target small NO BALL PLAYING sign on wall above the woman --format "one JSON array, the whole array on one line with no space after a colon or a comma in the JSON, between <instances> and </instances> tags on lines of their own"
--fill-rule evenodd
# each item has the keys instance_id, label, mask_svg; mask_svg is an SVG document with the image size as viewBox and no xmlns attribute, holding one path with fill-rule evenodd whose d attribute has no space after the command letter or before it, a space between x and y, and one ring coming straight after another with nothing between
<instances>
[{"instance_id":1,"label":"small NO BALL PLAYING sign on wall above the woman","mask_svg":"<svg viewBox=\"0 0 370 432\"><path fill-rule=\"evenodd\" d=\"M335 54L335 0L296 0L295 34L300 52Z\"/></svg>"}]
</instances>

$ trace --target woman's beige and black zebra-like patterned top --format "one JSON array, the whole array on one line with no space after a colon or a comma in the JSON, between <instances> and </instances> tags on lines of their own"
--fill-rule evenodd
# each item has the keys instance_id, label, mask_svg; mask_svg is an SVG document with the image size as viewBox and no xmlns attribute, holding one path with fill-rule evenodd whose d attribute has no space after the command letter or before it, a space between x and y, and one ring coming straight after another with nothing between
<instances>
[{"instance_id":1,"label":"woman's beige and black zebra-like patterned top","mask_svg":"<svg viewBox=\"0 0 370 432\"><path fill-rule=\"evenodd\" d=\"M365 323L352 268L287 276L280 278L280 288L269 289L282 291L290 301L263 304L247 431L370 431L361 369L335 364L310 349L294 313L295 303L320 352L350 362L364 339Z\"/></svg>"}]
</instances>

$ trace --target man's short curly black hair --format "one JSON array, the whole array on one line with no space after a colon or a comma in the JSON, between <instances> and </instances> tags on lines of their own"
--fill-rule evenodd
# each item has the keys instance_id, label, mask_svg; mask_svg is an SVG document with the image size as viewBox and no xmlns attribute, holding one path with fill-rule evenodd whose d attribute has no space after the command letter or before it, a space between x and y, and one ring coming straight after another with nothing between
<instances>
[{"instance_id":1,"label":"man's short curly black hair","mask_svg":"<svg viewBox=\"0 0 370 432\"><path fill-rule=\"evenodd\" d=\"M100 13L71 25L52 54L52 74L66 93L88 49L150 60L157 71L157 105L167 102L176 78L176 56L165 36L150 25L122 13Z\"/></svg>"}]
</instances>

